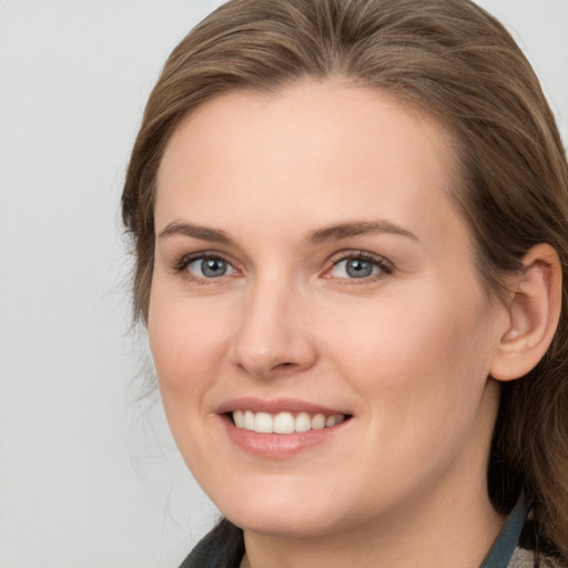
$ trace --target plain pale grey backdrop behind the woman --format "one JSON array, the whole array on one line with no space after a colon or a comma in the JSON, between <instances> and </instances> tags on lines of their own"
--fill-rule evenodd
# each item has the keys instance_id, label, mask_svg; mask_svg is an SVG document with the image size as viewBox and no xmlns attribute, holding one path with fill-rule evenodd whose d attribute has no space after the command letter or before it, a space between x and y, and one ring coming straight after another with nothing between
<instances>
[{"instance_id":1,"label":"plain pale grey backdrop behind the woman","mask_svg":"<svg viewBox=\"0 0 568 568\"><path fill-rule=\"evenodd\" d=\"M119 202L143 105L219 0L0 0L0 567L175 567L216 518L129 333ZM568 0L480 2L568 134Z\"/></svg>"}]
</instances>

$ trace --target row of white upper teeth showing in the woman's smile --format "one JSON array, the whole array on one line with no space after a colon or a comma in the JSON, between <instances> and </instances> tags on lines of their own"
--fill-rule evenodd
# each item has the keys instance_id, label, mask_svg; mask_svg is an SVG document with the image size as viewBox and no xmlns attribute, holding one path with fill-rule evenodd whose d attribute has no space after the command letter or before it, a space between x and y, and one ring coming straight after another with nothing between
<instances>
[{"instance_id":1,"label":"row of white upper teeth showing in the woman's smile","mask_svg":"<svg viewBox=\"0 0 568 568\"><path fill-rule=\"evenodd\" d=\"M258 434L293 434L294 432L321 430L342 423L345 419L343 414L325 416L307 413L300 413L294 416L292 413L253 413L252 410L234 410L233 420L237 428L254 430Z\"/></svg>"}]
</instances>

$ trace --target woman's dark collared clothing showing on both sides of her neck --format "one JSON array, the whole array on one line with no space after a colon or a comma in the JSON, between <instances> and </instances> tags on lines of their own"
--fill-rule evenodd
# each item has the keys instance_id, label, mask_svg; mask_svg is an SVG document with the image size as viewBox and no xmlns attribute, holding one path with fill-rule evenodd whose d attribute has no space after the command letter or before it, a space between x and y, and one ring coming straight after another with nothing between
<instances>
[{"instance_id":1,"label":"woman's dark collared clothing showing on both sides of her neck","mask_svg":"<svg viewBox=\"0 0 568 568\"><path fill-rule=\"evenodd\" d=\"M547 554L542 544L532 515L520 498L479 568L568 568ZM243 555L242 530L223 520L180 568L239 568Z\"/></svg>"}]
</instances>

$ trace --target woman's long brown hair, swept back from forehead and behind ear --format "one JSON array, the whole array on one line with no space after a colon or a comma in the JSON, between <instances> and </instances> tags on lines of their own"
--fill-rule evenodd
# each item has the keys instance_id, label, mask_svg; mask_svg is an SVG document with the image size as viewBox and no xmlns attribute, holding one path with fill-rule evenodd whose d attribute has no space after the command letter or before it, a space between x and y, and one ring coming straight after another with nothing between
<instances>
[{"instance_id":1,"label":"woman's long brown hair, swept back from forehead and behind ear","mask_svg":"<svg viewBox=\"0 0 568 568\"><path fill-rule=\"evenodd\" d=\"M469 0L233 0L199 24L165 63L128 170L135 315L148 318L156 172L180 121L227 90L273 91L305 77L388 91L449 126L463 176L454 199L489 292L532 245L558 252L560 323L538 366L504 387L488 483L503 513L523 488L544 538L568 559L568 166L530 64Z\"/></svg>"}]
</instances>

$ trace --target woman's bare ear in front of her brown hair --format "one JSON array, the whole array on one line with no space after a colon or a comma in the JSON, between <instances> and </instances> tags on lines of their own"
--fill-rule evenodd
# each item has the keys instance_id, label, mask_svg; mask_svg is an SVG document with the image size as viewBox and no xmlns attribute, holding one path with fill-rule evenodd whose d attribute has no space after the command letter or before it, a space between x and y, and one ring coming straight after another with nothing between
<instances>
[{"instance_id":1,"label":"woman's bare ear in front of her brown hair","mask_svg":"<svg viewBox=\"0 0 568 568\"><path fill-rule=\"evenodd\" d=\"M506 306L508 328L490 366L497 381L526 375L548 349L560 318L562 271L552 246L538 244L523 258Z\"/></svg>"}]
</instances>

